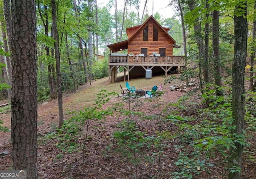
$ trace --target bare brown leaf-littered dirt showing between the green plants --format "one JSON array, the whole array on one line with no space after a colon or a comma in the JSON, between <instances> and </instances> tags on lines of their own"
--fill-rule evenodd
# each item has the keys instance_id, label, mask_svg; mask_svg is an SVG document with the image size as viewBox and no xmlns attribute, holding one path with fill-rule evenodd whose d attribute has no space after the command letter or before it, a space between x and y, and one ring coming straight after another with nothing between
<instances>
[{"instance_id":1,"label":"bare brown leaf-littered dirt showing between the green plants","mask_svg":"<svg viewBox=\"0 0 256 179\"><path fill-rule=\"evenodd\" d=\"M79 91L86 90L88 86L81 86L78 91L73 93L66 93L63 97L63 103L70 103L73 101L73 97ZM183 96L184 92L168 90L168 85L164 86L166 89L164 95L161 98L161 107L156 106L157 100L149 100L140 98L143 105L137 105L137 111L144 111L144 115L153 116L157 115L162 109L173 111L169 103L173 103ZM195 115L196 109L203 107L199 104L201 101L199 95L196 93L191 97L193 102L186 111L183 111L187 115ZM5 103L6 101L0 101ZM115 96L108 103L104 105L104 108L112 106L113 103L124 103L122 97ZM84 108L84 104L77 103L70 107L69 110L81 110ZM128 104L124 103L124 109L128 109ZM1 114L0 120L4 121L4 126L10 128L11 114ZM68 119L71 115L66 115ZM113 131L118 129L118 123L124 120L125 116L112 115L108 116L106 120L101 121L89 129L90 140L84 143L84 138L81 137L76 140L80 146L83 147L83 151L76 151L69 153L68 151L62 151L56 146L56 140L42 141L44 135L56 130L58 126L58 101L52 100L47 103L38 105L38 173L40 179L172 179L170 173L177 171L177 167L174 162L177 161L179 151L175 149L175 145L178 145L178 141L172 141L169 147L164 148L164 157L161 159L162 166L158 165L158 162L153 163L141 161L138 165L133 165L128 159L124 159L122 155L118 155L117 152L113 152L112 149L117 149L117 145L113 145L115 139L112 137ZM134 119L142 130L152 133L157 130L156 125L158 119L154 120L139 120ZM164 125L170 131L175 131L175 127L172 125ZM0 155L0 170L11 169L12 166L12 149L11 149L11 137L10 132L0 132L0 152L8 151L8 154ZM254 144L251 147L255 148L255 139L251 139L250 143ZM253 150L252 150L253 151ZM153 151L150 151L153 153ZM191 151L188 151L191 152ZM85 156L84 156L85 155ZM139 155L139 154L138 154ZM255 155L255 153L254 153ZM246 157L246 155L245 155ZM212 159L214 167L211 167L209 171L203 171L196 179L222 179L226 174L222 163L224 160L221 156ZM161 170L161 177L159 176ZM256 179L256 161L244 158L243 179Z\"/></svg>"}]
</instances>

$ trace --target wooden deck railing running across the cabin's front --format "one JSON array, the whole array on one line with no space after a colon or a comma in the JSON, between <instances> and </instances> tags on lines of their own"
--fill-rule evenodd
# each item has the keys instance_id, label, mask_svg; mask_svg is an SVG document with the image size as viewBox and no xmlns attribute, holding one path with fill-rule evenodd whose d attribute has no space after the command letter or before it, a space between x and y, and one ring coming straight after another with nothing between
<instances>
[{"instance_id":1,"label":"wooden deck railing running across the cabin's front","mask_svg":"<svg viewBox=\"0 0 256 179\"><path fill-rule=\"evenodd\" d=\"M185 64L184 56L111 56L109 64Z\"/></svg>"}]
</instances>

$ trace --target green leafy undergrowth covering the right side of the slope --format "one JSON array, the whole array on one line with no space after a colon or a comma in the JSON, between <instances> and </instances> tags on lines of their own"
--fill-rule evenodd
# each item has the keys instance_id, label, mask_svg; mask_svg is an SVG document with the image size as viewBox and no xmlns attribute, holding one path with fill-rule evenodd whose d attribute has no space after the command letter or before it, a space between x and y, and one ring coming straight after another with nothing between
<instances>
[{"instance_id":1,"label":"green leafy undergrowth covering the right side of the slope","mask_svg":"<svg viewBox=\"0 0 256 179\"><path fill-rule=\"evenodd\" d=\"M161 117L157 115L140 117L140 119L127 117L121 123L120 131L113 136L118 151L126 151L124 152L126 155L122 157L126 157L126 160L134 165L135 173L139 170L138 163L147 163L148 159L149 163L158 163L157 174L151 177L192 179L201 174L211 175L216 167L221 168L220 176L226 175L227 172L240 172L240 168L236 166L228 169L228 151L230 147L235 147L235 142L242 144L245 149L250 147L250 143L246 140L248 135L246 132L242 135L230 134L230 130L235 128L232 125L234 119L231 97L216 96L214 93L214 90L210 90L206 96L202 96L204 99L209 99L209 107L194 109L196 111L194 115L183 115L184 111L191 106L194 107L195 104L189 101L188 96L184 96L176 103L169 104L178 110L165 113ZM246 121L250 123L246 130L254 129L255 119L252 116L251 114L246 117ZM140 120L144 119L156 122L154 125L159 129L152 131L140 126ZM176 169L172 173L164 173L160 167L161 158L166 155L168 148L174 148L178 153L174 162ZM253 154L254 151L249 153ZM252 161L255 159L253 155L249 158Z\"/></svg>"}]
</instances>

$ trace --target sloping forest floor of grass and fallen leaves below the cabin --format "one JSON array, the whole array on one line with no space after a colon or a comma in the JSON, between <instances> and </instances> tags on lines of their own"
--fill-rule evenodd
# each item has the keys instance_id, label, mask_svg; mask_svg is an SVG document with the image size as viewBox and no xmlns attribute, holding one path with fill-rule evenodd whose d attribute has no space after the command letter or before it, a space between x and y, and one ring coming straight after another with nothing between
<instances>
[{"instance_id":1,"label":"sloping forest floor of grass and fallen leaves below the cabin","mask_svg":"<svg viewBox=\"0 0 256 179\"><path fill-rule=\"evenodd\" d=\"M164 84L164 78L152 77L152 80L132 79L130 86L136 89L149 90L154 84ZM108 78L92 82L92 85L83 85L76 91L65 93L63 103L65 111L84 111L92 106L96 100L98 89L103 88L120 94L120 84L116 82L108 84ZM114 95L110 101L102 105L103 110L108 111L112 107L112 115L106 115L105 119L94 121L88 127L86 137L86 124L71 126L62 131L64 135L57 135L58 127L58 100L47 101L38 105L38 175L40 179L174 179L174 173L188 173L186 178L193 179L224 179L226 178L226 158L217 151L211 151L213 157L206 157L205 153L198 152L190 147L192 141L190 135L185 138L177 137L178 128L189 124L192 128L187 131L199 131L196 128L201 123L198 110L205 108L201 103L200 91L188 93L169 90L170 84L164 85L165 93L160 98L136 98L128 99ZM111 88L110 88L111 87ZM123 87L124 88L124 87ZM193 87L194 88L194 87ZM111 91L111 89L113 91ZM194 90L194 89L190 89ZM184 103L177 103L180 97L189 99ZM93 98L93 99L91 99ZM0 104L8 101L0 101ZM117 104L117 105L116 105ZM176 105L175 105L176 104ZM130 111L134 113L130 114ZM138 114L139 112L139 114ZM178 121L182 116L183 121ZM66 112L68 120L74 114ZM172 118L173 117L173 118ZM185 120L187 117L195 120ZM204 116L201 116L202 119ZM0 120L4 126L10 128L11 113L2 113ZM74 119L81 119L74 117ZM130 119L127 120L127 119ZM164 119L168 119L164 120ZM89 120L89 119L88 119ZM132 122L134 121L134 123ZM90 120L89 120L90 122ZM176 125L176 122L180 124ZM79 123L79 121L78 121ZM130 128L126 128L129 125ZM205 124L209 125L209 124ZM74 128L79 129L74 133ZM126 129L126 131L125 131ZM68 133L70 130L70 133ZM125 131L116 133L116 131ZM65 133L66 132L66 133ZM134 133L133 133L134 132ZM164 134L166 132L166 135ZM116 134L114 136L114 133ZM254 131L248 131L249 147L245 147L243 156L243 179L256 179L256 135ZM71 136L71 134L74 136ZM185 133L186 134L186 131ZM188 134L188 132L187 132ZM0 170L12 168L11 133L0 132ZM159 139L159 136L163 139ZM168 137L168 135L170 135ZM47 137L45 137L47 136ZM157 136L157 137L156 137ZM62 137L63 139L60 139ZM118 138L119 137L119 138ZM153 147L147 147L142 141L152 138ZM118 139L124 139L120 145ZM139 140L140 139L140 140ZM141 140L142 139L142 140ZM182 140L180 140L182 139ZM129 143L130 141L130 143ZM166 142L168 141L168 142ZM119 142L119 144L118 144ZM166 143L165 143L166 142ZM146 142L149 145L150 142ZM142 146L143 145L143 146ZM185 146L186 145L186 146ZM184 155L184 157L181 157ZM186 157L187 156L187 157ZM195 159L193 156L200 156ZM182 161L181 161L182 160ZM177 165L177 162L184 165ZM206 166L206 163L212 165ZM196 166L196 167L195 167ZM193 177L189 177L192 174ZM176 177L178 179L179 177Z\"/></svg>"}]
</instances>

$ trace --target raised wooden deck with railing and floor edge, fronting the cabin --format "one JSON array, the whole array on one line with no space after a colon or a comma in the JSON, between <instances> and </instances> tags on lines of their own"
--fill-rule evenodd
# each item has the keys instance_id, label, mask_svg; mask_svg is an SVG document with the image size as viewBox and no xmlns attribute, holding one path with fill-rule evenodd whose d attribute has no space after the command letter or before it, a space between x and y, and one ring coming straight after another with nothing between
<instances>
[{"instance_id":1,"label":"raised wooden deck with railing and floor edge, fronting the cabin","mask_svg":"<svg viewBox=\"0 0 256 179\"><path fill-rule=\"evenodd\" d=\"M185 66L184 56L112 56L110 66Z\"/></svg>"}]
</instances>

